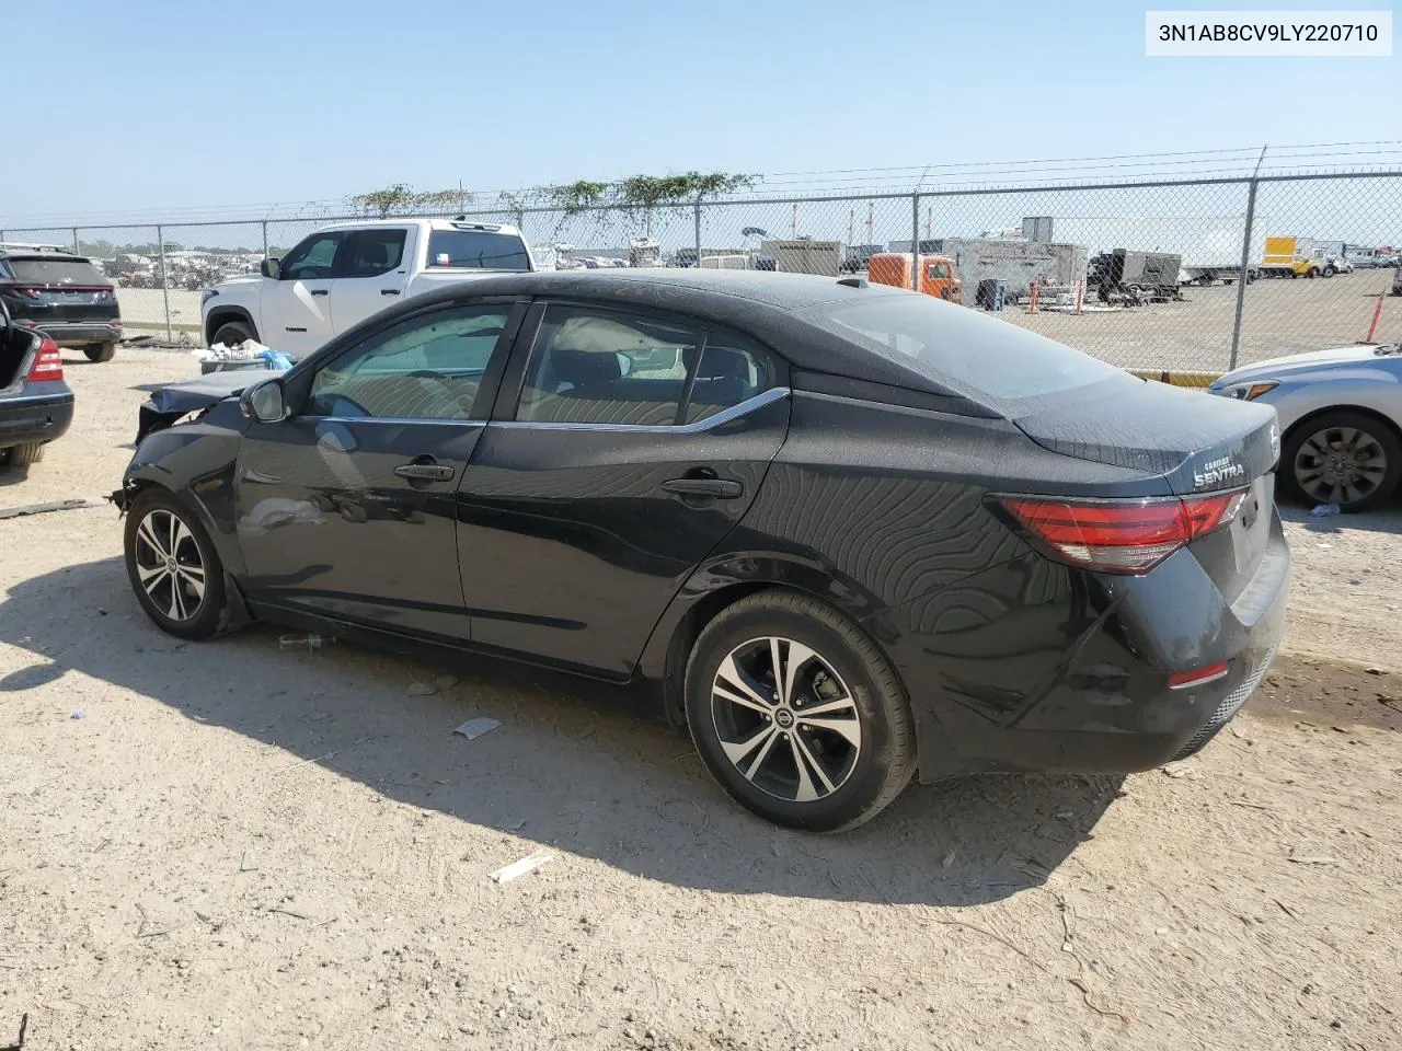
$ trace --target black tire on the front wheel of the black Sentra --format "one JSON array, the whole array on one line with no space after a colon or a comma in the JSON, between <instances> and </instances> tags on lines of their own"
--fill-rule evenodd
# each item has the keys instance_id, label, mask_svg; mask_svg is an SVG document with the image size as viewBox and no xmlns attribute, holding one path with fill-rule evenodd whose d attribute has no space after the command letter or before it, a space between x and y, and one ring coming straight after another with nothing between
<instances>
[{"instance_id":1,"label":"black tire on the front wheel of the black Sentra","mask_svg":"<svg viewBox=\"0 0 1402 1051\"><path fill-rule=\"evenodd\" d=\"M143 524L147 523L147 518L153 513L157 516L157 520L153 523L154 545L140 537ZM188 579L182 580L179 575L172 575L167 570L167 577L174 576L174 579L168 580L168 587L163 587L160 580L156 580L150 590L143 584L143 573L149 573L150 566L161 561L163 548L160 545L164 544L168 548L168 541L174 533L174 530L163 530L160 527L158 523L164 520L160 516L172 516L189 531L188 540L184 534L175 535L175 562L179 569L189 573L195 568L195 555L198 554L203 589L193 608L189 607L193 594L192 587ZM219 561L219 554L215 551L209 534L205 533L205 527L171 493L164 489L143 489L137 493L126 511L126 530L122 547L126 556L126 579L132 584L136 600L142 604L146 615L156 622L157 628L179 639L207 639L229 626L231 611L224 593L223 562ZM167 562L167 565L170 563ZM179 600L172 597L177 586L181 589ZM178 605L175 604L177 601ZM175 612L184 612L185 615L174 615Z\"/></svg>"}]
</instances>

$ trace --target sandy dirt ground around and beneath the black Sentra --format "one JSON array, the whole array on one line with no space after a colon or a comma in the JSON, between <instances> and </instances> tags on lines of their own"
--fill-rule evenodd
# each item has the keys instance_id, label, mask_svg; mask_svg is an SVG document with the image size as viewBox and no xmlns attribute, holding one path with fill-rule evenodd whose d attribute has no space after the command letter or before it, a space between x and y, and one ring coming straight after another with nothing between
<instances>
[{"instance_id":1,"label":"sandy dirt ground around and beneath the black Sentra","mask_svg":"<svg viewBox=\"0 0 1402 1051\"><path fill-rule=\"evenodd\" d=\"M77 422L0 507L109 492L143 388L198 371L64 369ZM1286 652L1202 754L822 838L638 712L179 643L114 510L0 520L0 1048L1396 1048L1402 513L1290 517Z\"/></svg>"}]
</instances>

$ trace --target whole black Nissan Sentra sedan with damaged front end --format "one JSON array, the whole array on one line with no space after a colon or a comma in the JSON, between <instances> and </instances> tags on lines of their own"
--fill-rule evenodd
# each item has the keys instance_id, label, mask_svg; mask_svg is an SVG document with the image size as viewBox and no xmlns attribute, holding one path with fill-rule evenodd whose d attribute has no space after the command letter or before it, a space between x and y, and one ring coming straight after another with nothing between
<instances>
[{"instance_id":1,"label":"whole black Nissan Sentra sedan with damaged front end","mask_svg":"<svg viewBox=\"0 0 1402 1051\"><path fill-rule=\"evenodd\" d=\"M1283 628L1273 411L855 277L489 277L142 426L115 499L167 632L641 685L815 831L917 768L1192 754Z\"/></svg>"}]
</instances>

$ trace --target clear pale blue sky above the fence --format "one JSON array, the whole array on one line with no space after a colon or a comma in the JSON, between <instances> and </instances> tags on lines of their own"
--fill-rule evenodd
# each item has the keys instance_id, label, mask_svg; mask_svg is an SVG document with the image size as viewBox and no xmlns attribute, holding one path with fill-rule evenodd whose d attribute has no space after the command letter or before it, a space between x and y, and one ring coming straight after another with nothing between
<instances>
[{"instance_id":1,"label":"clear pale blue sky above the fence","mask_svg":"<svg viewBox=\"0 0 1402 1051\"><path fill-rule=\"evenodd\" d=\"M1402 139L1399 59L1147 59L1145 7L70 0L8 41L0 220Z\"/></svg>"}]
</instances>

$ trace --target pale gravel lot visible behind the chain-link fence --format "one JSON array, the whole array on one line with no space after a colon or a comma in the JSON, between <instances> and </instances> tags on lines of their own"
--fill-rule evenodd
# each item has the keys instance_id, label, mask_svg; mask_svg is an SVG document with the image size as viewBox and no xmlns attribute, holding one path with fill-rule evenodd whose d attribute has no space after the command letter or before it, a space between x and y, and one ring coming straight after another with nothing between
<instances>
[{"instance_id":1,"label":"pale gravel lot visible behind the chain-link fence","mask_svg":"<svg viewBox=\"0 0 1402 1051\"><path fill-rule=\"evenodd\" d=\"M1368 332L1378 293L1392 270L1357 270L1328 280L1259 280L1246 289L1242 311L1241 364L1302 350L1347 346ZM967 296L973 296L966 289ZM198 291L168 291L174 334L199 339ZM118 289L122 320L130 332L165 332L160 289ZM1176 303L1151 303L1081 314L1009 307L998 317L1127 369L1227 371L1237 312L1235 286L1183 290ZM1387 296L1377 339L1402 339L1402 298Z\"/></svg>"}]
</instances>

